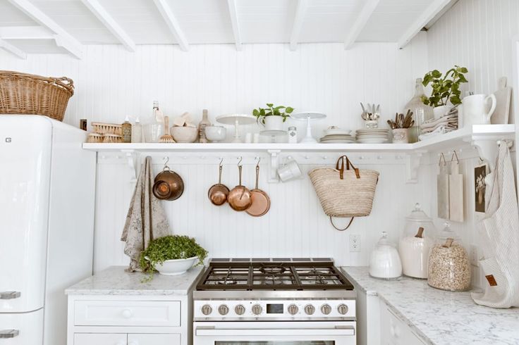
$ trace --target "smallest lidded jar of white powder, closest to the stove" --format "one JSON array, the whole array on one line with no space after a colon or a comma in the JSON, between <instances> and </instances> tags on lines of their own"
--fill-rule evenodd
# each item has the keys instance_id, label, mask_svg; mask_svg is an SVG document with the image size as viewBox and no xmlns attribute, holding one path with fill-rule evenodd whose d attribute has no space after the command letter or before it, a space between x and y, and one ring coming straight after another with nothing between
<instances>
[{"instance_id":1,"label":"smallest lidded jar of white powder, closest to the stove","mask_svg":"<svg viewBox=\"0 0 519 345\"><path fill-rule=\"evenodd\" d=\"M382 232L382 237L371 252L370 276L386 280L396 279L402 275L402 263L394 244L389 242L387 232Z\"/></svg>"}]
</instances>

